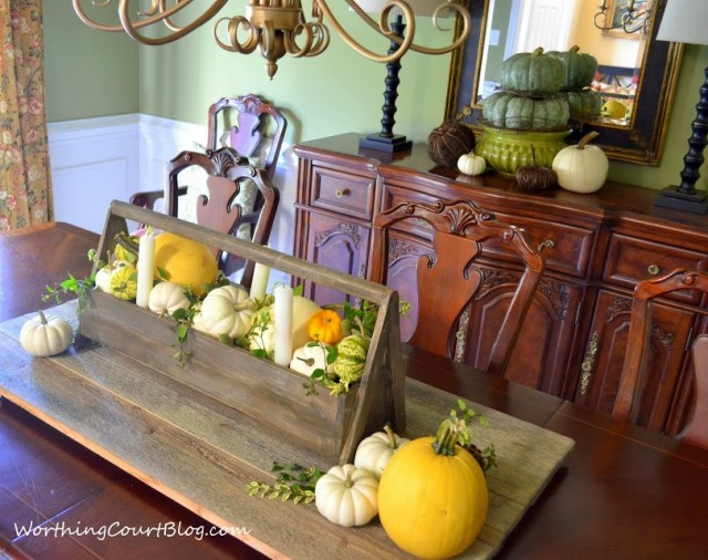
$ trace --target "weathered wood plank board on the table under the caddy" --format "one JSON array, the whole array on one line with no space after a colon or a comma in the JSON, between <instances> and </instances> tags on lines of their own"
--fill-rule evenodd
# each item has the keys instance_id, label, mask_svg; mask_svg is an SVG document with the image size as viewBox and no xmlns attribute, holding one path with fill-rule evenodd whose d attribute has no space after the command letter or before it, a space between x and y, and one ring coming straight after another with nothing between
<instances>
[{"instance_id":1,"label":"weathered wood plank board on the table under the caddy","mask_svg":"<svg viewBox=\"0 0 708 560\"><path fill-rule=\"evenodd\" d=\"M49 311L74 324L74 302ZM249 496L252 480L274 483L273 460L327 468L294 440L264 433L259 421L202 403L199 392L122 352L91 344L53 357L32 357L19 333L30 315L0 323L0 396L136 476L204 519L243 528L236 537L271 558L368 560L412 558L381 522L344 528L313 504L293 505ZM405 380L406 437L435 434L457 397ZM476 443L497 449L488 474L489 514L479 537L460 558L487 560L502 550L574 442L492 408L469 403L489 418ZM227 414L228 412L228 414ZM580 505L579 507L582 507ZM90 525L91 519L83 519Z\"/></svg>"}]
</instances>

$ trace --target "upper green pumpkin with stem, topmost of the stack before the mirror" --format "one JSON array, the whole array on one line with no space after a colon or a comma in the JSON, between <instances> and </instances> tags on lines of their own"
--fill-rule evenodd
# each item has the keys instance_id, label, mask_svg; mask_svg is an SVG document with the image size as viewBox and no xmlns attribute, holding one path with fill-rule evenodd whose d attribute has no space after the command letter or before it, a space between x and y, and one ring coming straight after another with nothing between
<instances>
[{"instance_id":1,"label":"upper green pumpkin with stem, topmost of the stack before the mirror","mask_svg":"<svg viewBox=\"0 0 708 560\"><path fill-rule=\"evenodd\" d=\"M530 95L555 93L563 87L565 63L545 54L539 46L533 52L512 54L501 63L501 87Z\"/></svg>"}]
</instances>

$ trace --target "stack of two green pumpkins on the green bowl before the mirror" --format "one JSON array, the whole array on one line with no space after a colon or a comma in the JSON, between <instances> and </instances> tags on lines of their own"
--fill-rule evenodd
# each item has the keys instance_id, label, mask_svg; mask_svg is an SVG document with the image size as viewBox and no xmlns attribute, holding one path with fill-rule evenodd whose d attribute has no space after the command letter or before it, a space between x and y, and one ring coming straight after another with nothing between
<instances>
[{"instance_id":1,"label":"stack of two green pumpkins on the green bowl before the mirror","mask_svg":"<svg viewBox=\"0 0 708 560\"><path fill-rule=\"evenodd\" d=\"M501 91L482 104L486 124L498 128L552 131L565 127L570 106L561 89L565 83L565 63L559 56L520 52L501 64Z\"/></svg>"}]
</instances>

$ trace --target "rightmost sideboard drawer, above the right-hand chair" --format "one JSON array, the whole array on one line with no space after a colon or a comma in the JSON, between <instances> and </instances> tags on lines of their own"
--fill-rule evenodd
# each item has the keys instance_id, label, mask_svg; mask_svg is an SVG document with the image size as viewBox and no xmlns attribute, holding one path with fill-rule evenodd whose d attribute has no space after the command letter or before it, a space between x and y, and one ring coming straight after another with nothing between
<instances>
[{"instance_id":1,"label":"rightmost sideboard drawer, above the right-hand chair","mask_svg":"<svg viewBox=\"0 0 708 560\"><path fill-rule=\"evenodd\" d=\"M707 270L708 253L613 234L603 280L634 289L641 280L664 276L677 268ZM693 305L700 302L697 291L675 292L669 298Z\"/></svg>"}]
</instances>

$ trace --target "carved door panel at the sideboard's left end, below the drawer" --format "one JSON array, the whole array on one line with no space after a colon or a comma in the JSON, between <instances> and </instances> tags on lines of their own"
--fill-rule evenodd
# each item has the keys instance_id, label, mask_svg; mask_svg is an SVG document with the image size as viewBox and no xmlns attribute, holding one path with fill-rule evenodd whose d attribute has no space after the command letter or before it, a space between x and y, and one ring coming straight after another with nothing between
<instances>
[{"instance_id":1,"label":"carved door panel at the sideboard's left end, below the drawer","mask_svg":"<svg viewBox=\"0 0 708 560\"><path fill-rule=\"evenodd\" d=\"M344 221L341 218L310 214L308 245L305 259L351 276L364 278L366 273L366 257L368 253L369 230L356 222ZM348 300L348 294L332 288L304 282L304 295L313 299L320 305L342 303Z\"/></svg>"}]
</instances>

